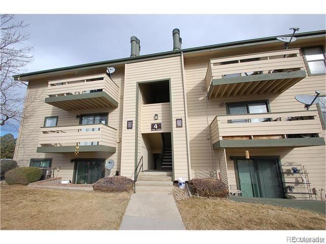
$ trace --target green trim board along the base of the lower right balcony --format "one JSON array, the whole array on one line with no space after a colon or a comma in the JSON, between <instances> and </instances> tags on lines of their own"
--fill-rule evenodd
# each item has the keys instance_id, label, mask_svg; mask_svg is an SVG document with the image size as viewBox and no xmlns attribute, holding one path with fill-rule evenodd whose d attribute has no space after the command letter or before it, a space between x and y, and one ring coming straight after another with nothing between
<instances>
[{"instance_id":1,"label":"green trim board along the base of the lower right balcony","mask_svg":"<svg viewBox=\"0 0 326 244\"><path fill-rule=\"evenodd\" d=\"M325 145L323 137L284 138L284 139L253 139L253 140L219 140L213 143L213 149L229 147L302 147Z\"/></svg>"}]
</instances>

